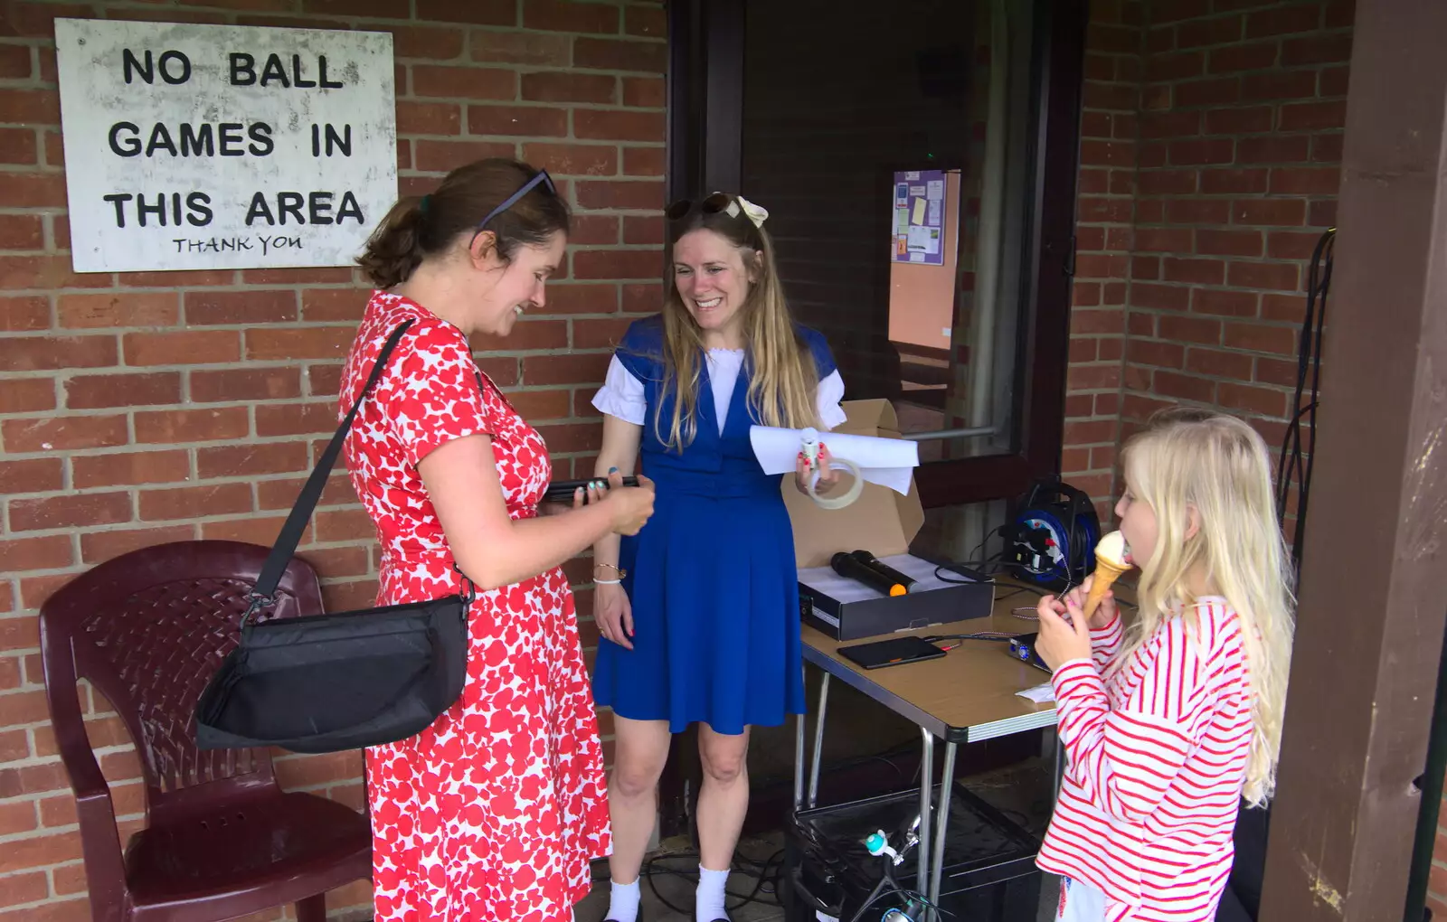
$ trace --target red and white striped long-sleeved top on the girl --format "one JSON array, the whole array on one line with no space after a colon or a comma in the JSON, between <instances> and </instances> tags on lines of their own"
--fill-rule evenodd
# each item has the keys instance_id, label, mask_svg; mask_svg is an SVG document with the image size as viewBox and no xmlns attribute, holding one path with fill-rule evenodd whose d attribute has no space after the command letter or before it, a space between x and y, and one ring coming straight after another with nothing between
<instances>
[{"instance_id":1,"label":"red and white striped long-sleeved top on the girl","mask_svg":"<svg viewBox=\"0 0 1447 922\"><path fill-rule=\"evenodd\" d=\"M1202 597L1103 679L1121 624L1051 682L1068 766L1037 864L1107 897L1107 922L1210 922L1231 871L1252 743L1240 620Z\"/></svg>"}]
</instances>

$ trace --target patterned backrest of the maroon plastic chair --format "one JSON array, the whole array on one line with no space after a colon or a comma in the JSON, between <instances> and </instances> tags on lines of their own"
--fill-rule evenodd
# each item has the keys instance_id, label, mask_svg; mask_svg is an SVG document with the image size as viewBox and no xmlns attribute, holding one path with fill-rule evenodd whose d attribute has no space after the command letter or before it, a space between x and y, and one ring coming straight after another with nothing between
<instances>
[{"instance_id":1,"label":"patterned backrest of the maroon plastic chair","mask_svg":"<svg viewBox=\"0 0 1447 922\"><path fill-rule=\"evenodd\" d=\"M140 756L148 811L200 785L275 783L266 750L195 747L195 702L237 643L266 553L233 540L155 545L77 577L41 607L46 682L90 679L116 707ZM297 558L276 598L266 619L323 611L317 574Z\"/></svg>"}]
</instances>

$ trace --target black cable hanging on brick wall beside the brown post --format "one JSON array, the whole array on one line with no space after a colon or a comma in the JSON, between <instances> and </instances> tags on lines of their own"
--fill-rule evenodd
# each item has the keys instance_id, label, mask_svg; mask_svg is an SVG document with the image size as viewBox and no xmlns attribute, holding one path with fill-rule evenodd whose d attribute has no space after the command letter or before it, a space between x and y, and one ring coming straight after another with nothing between
<instances>
[{"instance_id":1,"label":"black cable hanging on brick wall beside the brown post","mask_svg":"<svg viewBox=\"0 0 1447 922\"><path fill-rule=\"evenodd\" d=\"M1311 253L1307 272L1307 314L1301 322L1301 337L1297 341L1297 390L1291 422L1282 438L1281 458L1276 462L1276 517L1286 519L1291 487L1297 484L1297 527L1291 542L1292 572L1301 572L1302 543L1307 535L1307 497L1311 493L1311 468L1317 460L1317 408L1321 402L1321 331L1327 318L1327 293L1331 290L1333 251L1337 228L1330 227ZM1302 405L1307 382L1311 382L1311 400ZM1302 448L1302 421L1307 422L1305 449Z\"/></svg>"}]
</instances>

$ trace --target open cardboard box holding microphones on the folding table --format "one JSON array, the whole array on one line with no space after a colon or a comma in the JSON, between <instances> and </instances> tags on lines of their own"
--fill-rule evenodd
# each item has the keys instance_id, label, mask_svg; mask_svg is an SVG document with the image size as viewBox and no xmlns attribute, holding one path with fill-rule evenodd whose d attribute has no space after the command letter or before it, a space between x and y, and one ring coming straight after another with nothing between
<instances>
[{"instance_id":1,"label":"open cardboard box holding microphones on the folding table","mask_svg":"<svg viewBox=\"0 0 1447 922\"><path fill-rule=\"evenodd\" d=\"M848 419L835 432L900 438L888 400L848 400L841 406ZM822 438L828 444L829 435ZM948 571L936 575L933 562L909 556L910 542L925 525L925 507L913 480L907 496L864 484L860 499L845 509L820 509L794 487L792 477L784 477L783 494L794 529L799 608L806 624L836 640L857 640L990 617L994 582ZM861 549L916 578L916 587L907 595L888 597L839 577L829 566L836 552Z\"/></svg>"}]
</instances>

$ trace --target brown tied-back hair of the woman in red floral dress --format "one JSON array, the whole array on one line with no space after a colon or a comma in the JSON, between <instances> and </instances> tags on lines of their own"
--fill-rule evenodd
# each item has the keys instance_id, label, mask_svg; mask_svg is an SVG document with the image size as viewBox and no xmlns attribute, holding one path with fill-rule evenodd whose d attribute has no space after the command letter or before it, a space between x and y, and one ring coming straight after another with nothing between
<instances>
[{"instance_id":1,"label":"brown tied-back hair of the woman in red floral dress","mask_svg":"<svg viewBox=\"0 0 1447 922\"><path fill-rule=\"evenodd\" d=\"M537 169L518 160L486 159L447 173L436 192L405 197L372 231L357 266L379 289L405 282L423 260L446 251L462 234L517 192ZM511 262L519 246L543 246L557 231L569 230L569 210L541 185L488 223L496 234L498 257Z\"/></svg>"}]
</instances>

